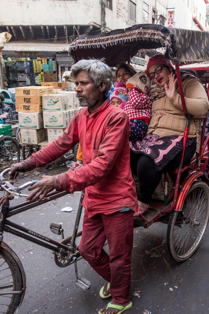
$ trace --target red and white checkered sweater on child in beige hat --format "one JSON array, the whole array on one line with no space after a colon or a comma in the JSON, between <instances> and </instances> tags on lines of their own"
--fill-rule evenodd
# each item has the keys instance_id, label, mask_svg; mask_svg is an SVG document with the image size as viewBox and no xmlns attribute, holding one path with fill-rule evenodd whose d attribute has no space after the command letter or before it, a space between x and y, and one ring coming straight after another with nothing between
<instances>
[{"instance_id":1,"label":"red and white checkered sweater on child in beige hat","mask_svg":"<svg viewBox=\"0 0 209 314\"><path fill-rule=\"evenodd\" d=\"M149 96L139 92L137 87L133 87L128 92L128 101L121 108L127 113L129 120L144 120L149 124L151 118L151 100Z\"/></svg>"}]
</instances>

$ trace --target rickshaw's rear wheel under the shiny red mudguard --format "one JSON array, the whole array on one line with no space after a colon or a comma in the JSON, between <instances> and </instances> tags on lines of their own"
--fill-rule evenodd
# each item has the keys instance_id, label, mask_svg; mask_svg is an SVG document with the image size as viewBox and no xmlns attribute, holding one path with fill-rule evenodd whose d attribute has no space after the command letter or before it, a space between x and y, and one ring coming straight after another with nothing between
<instances>
[{"instance_id":1,"label":"rickshaw's rear wheel under the shiny red mudguard","mask_svg":"<svg viewBox=\"0 0 209 314\"><path fill-rule=\"evenodd\" d=\"M184 262L196 251L205 234L209 219L209 187L205 182L192 184L182 212L173 211L167 230L170 256Z\"/></svg>"}]
</instances>

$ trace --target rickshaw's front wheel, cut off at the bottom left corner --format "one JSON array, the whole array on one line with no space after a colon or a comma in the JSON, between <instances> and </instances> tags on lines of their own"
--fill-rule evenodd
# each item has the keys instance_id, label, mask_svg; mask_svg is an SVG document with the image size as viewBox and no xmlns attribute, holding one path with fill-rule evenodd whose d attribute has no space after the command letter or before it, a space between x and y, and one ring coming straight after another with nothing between
<instances>
[{"instance_id":1,"label":"rickshaw's front wheel, cut off at the bottom left corner","mask_svg":"<svg viewBox=\"0 0 209 314\"><path fill-rule=\"evenodd\" d=\"M0 248L0 313L13 314L23 292L23 278L14 257Z\"/></svg>"}]
</instances>

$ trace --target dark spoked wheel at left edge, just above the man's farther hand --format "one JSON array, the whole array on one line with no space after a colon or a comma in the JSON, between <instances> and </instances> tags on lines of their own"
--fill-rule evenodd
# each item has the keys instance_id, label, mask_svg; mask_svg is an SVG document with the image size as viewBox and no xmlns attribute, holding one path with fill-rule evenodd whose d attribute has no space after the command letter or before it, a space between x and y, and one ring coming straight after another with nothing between
<instances>
[{"instance_id":1,"label":"dark spoked wheel at left edge, just above the man's farther hand","mask_svg":"<svg viewBox=\"0 0 209 314\"><path fill-rule=\"evenodd\" d=\"M19 143L11 136L0 138L0 168L10 167L20 161Z\"/></svg>"}]
</instances>

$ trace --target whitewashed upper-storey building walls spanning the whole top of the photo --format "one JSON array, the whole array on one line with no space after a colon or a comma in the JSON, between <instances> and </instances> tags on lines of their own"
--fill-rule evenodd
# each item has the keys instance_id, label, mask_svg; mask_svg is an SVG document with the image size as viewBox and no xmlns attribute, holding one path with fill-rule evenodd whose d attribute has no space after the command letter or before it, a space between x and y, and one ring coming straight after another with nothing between
<instances>
[{"instance_id":1,"label":"whitewashed upper-storey building walls spanning the whole top of the photo","mask_svg":"<svg viewBox=\"0 0 209 314\"><path fill-rule=\"evenodd\" d=\"M136 20L130 20L130 4L136 9ZM161 23L160 16L168 19L168 10L174 9L174 27L199 29L192 17L205 27L204 0L112 0L112 10L106 8L107 30L141 24L143 8L148 10L148 23ZM154 11L153 11L154 10ZM194 11L196 13L194 13ZM7 0L1 3L1 25L87 25L101 24L101 0ZM165 26L167 26L167 20Z\"/></svg>"}]
</instances>

